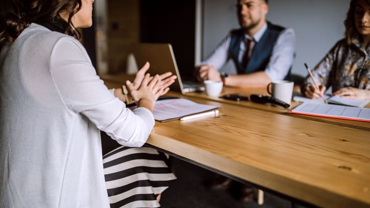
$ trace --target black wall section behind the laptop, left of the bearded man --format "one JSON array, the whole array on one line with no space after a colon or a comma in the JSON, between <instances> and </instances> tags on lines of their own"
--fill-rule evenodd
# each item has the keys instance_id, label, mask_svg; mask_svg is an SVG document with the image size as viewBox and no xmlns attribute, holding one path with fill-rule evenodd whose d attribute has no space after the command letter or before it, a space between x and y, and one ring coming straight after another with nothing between
<instances>
[{"instance_id":1,"label":"black wall section behind the laptop, left of the bearded man","mask_svg":"<svg viewBox=\"0 0 370 208\"><path fill-rule=\"evenodd\" d=\"M140 41L171 43L181 77L192 76L195 51L195 0L141 0Z\"/></svg>"}]
</instances>

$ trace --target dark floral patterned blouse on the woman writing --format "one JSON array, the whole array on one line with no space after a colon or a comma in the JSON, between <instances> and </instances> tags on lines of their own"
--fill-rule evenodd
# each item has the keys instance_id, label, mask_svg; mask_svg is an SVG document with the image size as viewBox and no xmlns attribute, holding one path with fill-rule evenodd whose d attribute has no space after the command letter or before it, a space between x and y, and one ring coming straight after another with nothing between
<instances>
[{"instance_id":1,"label":"dark floral patterned blouse on the woman writing","mask_svg":"<svg viewBox=\"0 0 370 208\"><path fill-rule=\"evenodd\" d=\"M337 91L342 87L370 89L370 46L364 49L359 38L351 45L339 40L329 53L317 64L312 74L318 85ZM312 83L308 76L302 91Z\"/></svg>"}]
</instances>

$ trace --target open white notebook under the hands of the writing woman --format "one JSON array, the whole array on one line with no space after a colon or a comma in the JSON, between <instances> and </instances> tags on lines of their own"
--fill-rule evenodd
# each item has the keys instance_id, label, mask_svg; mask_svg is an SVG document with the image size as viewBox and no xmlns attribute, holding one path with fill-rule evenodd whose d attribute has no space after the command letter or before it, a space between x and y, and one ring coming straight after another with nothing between
<instances>
[{"instance_id":1,"label":"open white notebook under the hands of the writing woman","mask_svg":"<svg viewBox=\"0 0 370 208\"><path fill-rule=\"evenodd\" d=\"M294 96L294 101L297 102L308 102L308 103L317 103L317 104L338 104L338 105L347 105L353 107L364 107L370 100L357 100L357 99L348 99L340 96L328 96L324 95L322 98L310 99L306 97Z\"/></svg>"}]
</instances>

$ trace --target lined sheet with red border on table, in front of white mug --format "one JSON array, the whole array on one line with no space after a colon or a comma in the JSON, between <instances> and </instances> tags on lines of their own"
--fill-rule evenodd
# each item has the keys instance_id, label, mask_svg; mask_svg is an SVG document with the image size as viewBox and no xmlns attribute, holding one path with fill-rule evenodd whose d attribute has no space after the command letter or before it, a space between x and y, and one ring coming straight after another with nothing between
<instances>
[{"instance_id":1,"label":"lined sheet with red border on table, in front of white mug","mask_svg":"<svg viewBox=\"0 0 370 208\"><path fill-rule=\"evenodd\" d=\"M370 122L370 108L304 102L290 113Z\"/></svg>"}]
</instances>

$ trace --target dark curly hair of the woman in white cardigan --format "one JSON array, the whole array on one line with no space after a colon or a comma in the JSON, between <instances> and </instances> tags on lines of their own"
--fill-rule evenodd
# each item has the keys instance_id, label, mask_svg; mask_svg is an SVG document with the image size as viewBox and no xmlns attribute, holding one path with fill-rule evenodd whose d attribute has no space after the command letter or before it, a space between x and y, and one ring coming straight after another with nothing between
<instances>
[{"instance_id":1,"label":"dark curly hair of the woman in white cardigan","mask_svg":"<svg viewBox=\"0 0 370 208\"><path fill-rule=\"evenodd\" d=\"M49 25L59 32L80 33L72 24L72 16L81 9L81 0L2 0L0 8L0 43L13 42L32 22ZM67 20L60 12L69 14Z\"/></svg>"}]
</instances>

